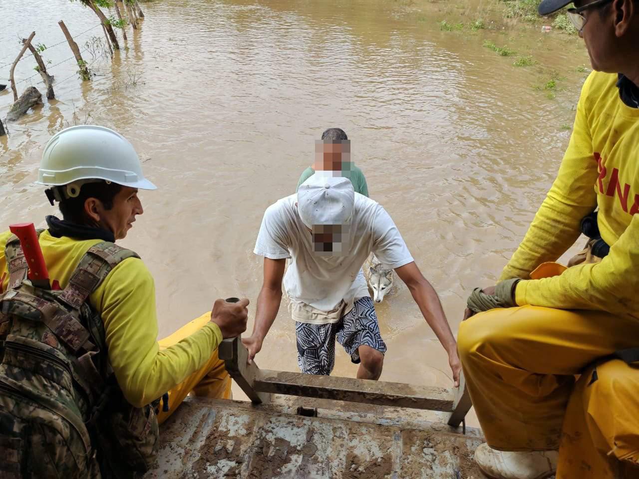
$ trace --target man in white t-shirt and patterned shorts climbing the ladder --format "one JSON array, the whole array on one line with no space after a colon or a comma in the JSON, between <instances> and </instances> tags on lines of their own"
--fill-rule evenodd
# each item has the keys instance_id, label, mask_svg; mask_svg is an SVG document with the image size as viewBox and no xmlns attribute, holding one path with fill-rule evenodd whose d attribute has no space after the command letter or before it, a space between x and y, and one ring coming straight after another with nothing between
<instances>
[{"instance_id":1,"label":"man in white t-shirt and patterned shorts climbing the ladder","mask_svg":"<svg viewBox=\"0 0 639 479\"><path fill-rule=\"evenodd\" d=\"M266 209L254 253L264 257L264 282L255 326L243 344L249 362L262 347L284 289L292 304L302 372L328 375L335 338L360 363L357 377L378 379L386 345L380 336L362 264L371 251L408 285L427 323L449 354L454 383L461 369L455 339L442 305L422 276L389 214L353 191L348 178L316 172L298 193Z\"/></svg>"}]
</instances>

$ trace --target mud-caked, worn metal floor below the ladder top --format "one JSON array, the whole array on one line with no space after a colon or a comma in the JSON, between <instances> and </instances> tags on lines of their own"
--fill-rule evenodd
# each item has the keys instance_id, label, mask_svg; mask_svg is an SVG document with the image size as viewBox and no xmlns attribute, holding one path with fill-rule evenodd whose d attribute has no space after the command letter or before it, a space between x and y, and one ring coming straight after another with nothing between
<instances>
[{"instance_id":1,"label":"mud-caked, worn metal floor below the ladder top","mask_svg":"<svg viewBox=\"0 0 639 479\"><path fill-rule=\"evenodd\" d=\"M472 462L477 431L462 436L400 417L360 422L364 412L346 410L343 418L292 411L295 404L188 398L162 426L160 459L145 479L484 479Z\"/></svg>"}]
</instances>

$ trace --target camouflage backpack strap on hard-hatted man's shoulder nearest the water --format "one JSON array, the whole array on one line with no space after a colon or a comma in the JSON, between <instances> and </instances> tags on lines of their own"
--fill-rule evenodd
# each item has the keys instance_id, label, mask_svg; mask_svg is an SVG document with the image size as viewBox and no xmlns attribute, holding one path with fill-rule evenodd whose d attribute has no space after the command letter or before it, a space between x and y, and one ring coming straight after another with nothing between
<instances>
[{"instance_id":1,"label":"camouflage backpack strap on hard-hatted man's shoulder nearest the water","mask_svg":"<svg viewBox=\"0 0 639 479\"><path fill-rule=\"evenodd\" d=\"M121 248L108 241L94 245L89 248L80 264L73 271L69 284L66 285L60 299L70 307L79 310L89 294L95 291L96 287L111 273L111 270L119 262L130 257L139 258L131 250Z\"/></svg>"}]
</instances>

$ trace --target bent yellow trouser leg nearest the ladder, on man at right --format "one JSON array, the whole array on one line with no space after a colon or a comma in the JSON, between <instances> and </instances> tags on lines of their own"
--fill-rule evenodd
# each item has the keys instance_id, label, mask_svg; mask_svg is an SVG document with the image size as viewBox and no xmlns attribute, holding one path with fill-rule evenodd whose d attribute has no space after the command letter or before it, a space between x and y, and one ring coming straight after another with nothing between
<instances>
[{"instance_id":1,"label":"bent yellow trouser leg nearest the ladder, on man at right","mask_svg":"<svg viewBox=\"0 0 639 479\"><path fill-rule=\"evenodd\" d=\"M459 356L486 441L498 450L557 449L574 376L638 344L639 321L599 311L524 306L464 321ZM639 448L635 429L628 440ZM602 479L581 471L558 476L569 478Z\"/></svg>"}]
</instances>

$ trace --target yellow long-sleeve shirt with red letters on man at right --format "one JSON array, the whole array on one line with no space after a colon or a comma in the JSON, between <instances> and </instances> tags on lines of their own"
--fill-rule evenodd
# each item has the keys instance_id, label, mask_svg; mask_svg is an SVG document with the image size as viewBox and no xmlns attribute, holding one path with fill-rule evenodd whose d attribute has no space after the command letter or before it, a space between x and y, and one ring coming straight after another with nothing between
<instances>
[{"instance_id":1,"label":"yellow long-sleeve shirt with red letters on man at right","mask_svg":"<svg viewBox=\"0 0 639 479\"><path fill-rule=\"evenodd\" d=\"M589 75L577 105L573 135L541 208L501 279L523 278L518 305L604 310L639 319L639 109L619 98L617 75ZM556 261L580 234L580 220L599 208L597 222L610 253L596 264L530 280Z\"/></svg>"}]
</instances>

